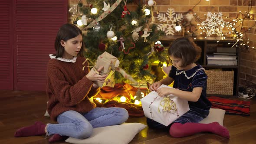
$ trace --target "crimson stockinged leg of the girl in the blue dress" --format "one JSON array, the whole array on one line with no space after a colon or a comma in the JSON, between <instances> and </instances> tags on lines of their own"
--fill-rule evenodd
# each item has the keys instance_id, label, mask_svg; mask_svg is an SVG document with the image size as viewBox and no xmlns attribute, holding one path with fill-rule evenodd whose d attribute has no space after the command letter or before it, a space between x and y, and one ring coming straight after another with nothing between
<instances>
[{"instance_id":1,"label":"crimson stockinged leg of the girl in the blue dress","mask_svg":"<svg viewBox=\"0 0 256 144\"><path fill-rule=\"evenodd\" d=\"M211 132L213 134L218 134L225 138L230 138L229 131L221 126L218 122L213 122L210 124L199 124L199 123L174 123L170 128L170 135L172 137L186 137L199 132Z\"/></svg>"}]
</instances>

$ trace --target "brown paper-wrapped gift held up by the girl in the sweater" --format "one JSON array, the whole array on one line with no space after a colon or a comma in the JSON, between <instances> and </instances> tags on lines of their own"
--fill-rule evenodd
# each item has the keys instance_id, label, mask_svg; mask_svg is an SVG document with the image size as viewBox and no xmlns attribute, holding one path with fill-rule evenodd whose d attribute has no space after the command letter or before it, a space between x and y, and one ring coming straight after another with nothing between
<instances>
[{"instance_id":1,"label":"brown paper-wrapped gift held up by the girl in the sweater","mask_svg":"<svg viewBox=\"0 0 256 144\"><path fill-rule=\"evenodd\" d=\"M107 80L111 78L115 72L115 69L119 66L119 60L115 56L112 56L110 53L104 52L102 55L98 56L95 69L99 69L101 66L103 66L103 69L99 72L99 75L107 74L108 76L105 79L105 82L94 82L99 87L106 85Z\"/></svg>"}]
</instances>

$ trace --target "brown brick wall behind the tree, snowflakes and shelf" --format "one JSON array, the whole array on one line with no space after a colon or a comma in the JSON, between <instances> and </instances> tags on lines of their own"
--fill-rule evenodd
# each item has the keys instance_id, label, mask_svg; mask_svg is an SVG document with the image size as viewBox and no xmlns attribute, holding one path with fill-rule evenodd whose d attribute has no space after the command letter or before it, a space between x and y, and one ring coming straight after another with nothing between
<instances>
[{"instance_id":1,"label":"brown brick wall behind the tree, snowflakes and shelf","mask_svg":"<svg viewBox=\"0 0 256 144\"><path fill-rule=\"evenodd\" d=\"M69 0L69 5L76 4L79 0ZM156 0L157 9L160 12L166 12L168 8L174 8L176 13L184 13L192 9L200 0ZM236 18L239 11L245 13L248 10L248 4L250 0L201 0L200 3L194 7L194 12L204 20L204 14L207 12L222 12L224 16L230 18ZM83 3L86 0L82 0ZM137 5L135 3L145 3L148 0L134 0L133 4L128 5L130 11L136 10ZM254 19L256 15L256 0L252 0L252 10L250 11L251 17ZM156 15L155 15L156 16ZM224 20L228 20L223 17ZM71 18L70 18L71 21ZM254 20L244 21L243 29L248 29L254 25ZM247 38L250 39L251 46L255 46L254 49L248 51L242 51L240 54L240 85L247 85L249 83L256 84L256 26L251 28L247 33Z\"/></svg>"}]
</instances>

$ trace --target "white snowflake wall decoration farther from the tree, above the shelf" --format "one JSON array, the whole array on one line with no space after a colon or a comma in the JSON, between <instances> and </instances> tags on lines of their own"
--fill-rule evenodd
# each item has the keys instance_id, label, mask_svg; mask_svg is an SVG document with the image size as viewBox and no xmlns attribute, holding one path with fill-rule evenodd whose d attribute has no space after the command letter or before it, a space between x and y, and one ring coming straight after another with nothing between
<instances>
[{"instance_id":1,"label":"white snowflake wall decoration farther from the tree, above the shelf","mask_svg":"<svg viewBox=\"0 0 256 144\"><path fill-rule=\"evenodd\" d=\"M207 36L211 36L213 34L221 36L224 25L225 22L222 19L221 12L219 12L218 14L207 12L207 19L200 23L199 28L203 29Z\"/></svg>"}]
</instances>

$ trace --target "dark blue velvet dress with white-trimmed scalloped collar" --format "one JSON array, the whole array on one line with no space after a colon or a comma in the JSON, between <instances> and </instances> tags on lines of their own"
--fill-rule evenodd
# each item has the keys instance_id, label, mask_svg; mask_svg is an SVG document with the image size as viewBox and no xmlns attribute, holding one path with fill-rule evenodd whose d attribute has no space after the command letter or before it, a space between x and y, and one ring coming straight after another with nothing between
<instances>
[{"instance_id":1,"label":"dark blue velvet dress with white-trimmed scalloped collar","mask_svg":"<svg viewBox=\"0 0 256 144\"><path fill-rule=\"evenodd\" d=\"M198 123L203 118L206 118L209 115L209 110L211 107L210 101L206 97L206 88L207 88L207 75L204 72L201 65L197 65L194 68L183 71L177 70L174 66L171 67L171 71L169 73L169 77L174 79L174 88L192 92L193 88L202 87L203 91L201 93L200 98L197 102L188 101L188 105L190 110L187 111L184 115L177 118L173 123L187 123L194 122ZM164 126L156 121L147 118L147 123L149 128L170 128L169 126Z\"/></svg>"}]
</instances>

